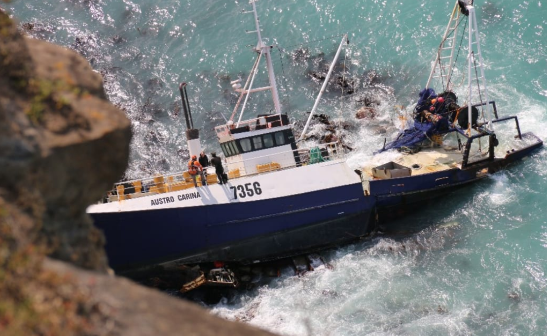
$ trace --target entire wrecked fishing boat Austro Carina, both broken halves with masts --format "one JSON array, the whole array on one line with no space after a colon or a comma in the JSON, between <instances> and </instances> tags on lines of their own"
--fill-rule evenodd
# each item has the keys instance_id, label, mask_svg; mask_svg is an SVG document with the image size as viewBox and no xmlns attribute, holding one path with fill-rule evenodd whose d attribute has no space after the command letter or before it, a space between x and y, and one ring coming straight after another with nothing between
<instances>
[{"instance_id":1,"label":"entire wrecked fishing boat Austro Carina, both broken halves with masts","mask_svg":"<svg viewBox=\"0 0 547 336\"><path fill-rule=\"evenodd\" d=\"M459 0L408 128L360 169L346 163L346 147L339 142L302 147L299 140L306 137L346 37L297 138L278 97L272 46L261 38L255 0L249 3L257 59L243 86L232 82L239 100L230 119L214 129L228 182L220 183L211 172L205 181L198 177L195 187L184 171L117 183L88 213L103 230L110 266L118 272L171 261L263 262L355 241L401 209L486 178L543 145L532 133L521 133L516 116L498 117L496 104L488 100L475 9ZM463 25L470 29L468 86L462 94L452 77L461 73L456 33ZM254 88L263 58L269 86ZM199 155L187 86L179 89L190 155ZM271 92L275 113L243 120L249 95L262 91ZM502 127L507 123L515 128Z\"/></svg>"}]
</instances>

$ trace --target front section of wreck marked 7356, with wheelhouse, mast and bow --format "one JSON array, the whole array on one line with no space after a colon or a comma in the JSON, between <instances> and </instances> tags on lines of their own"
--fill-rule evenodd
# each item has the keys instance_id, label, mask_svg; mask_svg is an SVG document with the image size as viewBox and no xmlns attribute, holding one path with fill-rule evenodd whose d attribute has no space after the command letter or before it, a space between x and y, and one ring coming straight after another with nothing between
<instances>
[{"instance_id":1,"label":"front section of wreck marked 7356, with wheelhouse, mast and bow","mask_svg":"<svg viewBox=\"0 0 547 336\"><path fill-rule=\"evenodd\" d=\"M162 262L253 263L338 245L367 235L374 200L365 194L360 175L347 165L337 142L302 147L283 113L276 86L271 45L261 37L255 1L249 2L257 45L256 60L245 84L232 82L239 94L234 112L214 129L225 157L227 183L214 169L197 187L188 171L117 183L106 202L88 213L106 237L109 264L118 272ZM337 49L301 138L325 91L342 48ZM261 61L269 85L253 87ZM179 87L187 123L190 155L199 155L187 85ZM271 107L242 119L249 95L271 93Z\"/></svg>"}]
</instances>

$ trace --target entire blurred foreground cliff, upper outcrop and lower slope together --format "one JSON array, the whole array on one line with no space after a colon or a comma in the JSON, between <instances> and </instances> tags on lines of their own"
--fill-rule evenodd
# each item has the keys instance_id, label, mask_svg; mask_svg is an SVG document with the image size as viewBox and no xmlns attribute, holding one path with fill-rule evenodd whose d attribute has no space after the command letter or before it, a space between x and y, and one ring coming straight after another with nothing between
<instances>
[{"instance_id":1,"label":"entire blurred foreground cliff, upper outcrop and lower slope together","mask_svg":"<svg viewBox=\"0 0 547 336\"><path fill-rule=\"evenodd\" d=\"M85 209L124 172L130 138L85 59L0 10L0 335L267 335L106 274Z\"/></svg>"}]
</instances>

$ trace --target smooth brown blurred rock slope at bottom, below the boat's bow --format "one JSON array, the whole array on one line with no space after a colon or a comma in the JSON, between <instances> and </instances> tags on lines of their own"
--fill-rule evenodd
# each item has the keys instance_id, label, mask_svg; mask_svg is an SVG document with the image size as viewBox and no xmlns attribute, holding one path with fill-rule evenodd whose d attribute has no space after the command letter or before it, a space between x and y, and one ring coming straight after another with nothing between
<instances>
[{"instance_id":1,"label":"smooth brown blurred rock slope at bottom, below the boat's bow","mask_svg":"<svg viewBox=\"0 0 547 336\"><path fill-rule=\"evenodd\" d=\"M45 267L70 278L76 288L93 293L89 309L102 324L94 323L95 328L85 335L274 336L243 323L220 319L196 304L124 278L82 271L56 261L47 261Z\"/></svg>"}]
</instances>

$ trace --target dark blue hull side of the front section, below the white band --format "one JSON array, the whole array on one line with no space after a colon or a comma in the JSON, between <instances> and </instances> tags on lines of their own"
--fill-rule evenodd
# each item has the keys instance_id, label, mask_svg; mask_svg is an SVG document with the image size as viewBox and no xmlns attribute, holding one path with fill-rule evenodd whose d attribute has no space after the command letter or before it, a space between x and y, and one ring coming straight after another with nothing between
<instances>
[{"instance_id":1,"label":"dark blue hull side of the front section, below the white band","mask_svg":"<svg viewBox=\"0 0 547 336\"><path fill-rule=\"evenodd\" d=\"M348 242L370 231L361 184L276 199L93 213L117 271L180 260L253 262Z\"/></svg>"}]
</instances>

